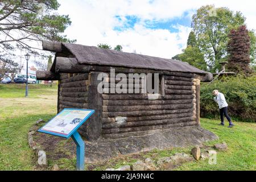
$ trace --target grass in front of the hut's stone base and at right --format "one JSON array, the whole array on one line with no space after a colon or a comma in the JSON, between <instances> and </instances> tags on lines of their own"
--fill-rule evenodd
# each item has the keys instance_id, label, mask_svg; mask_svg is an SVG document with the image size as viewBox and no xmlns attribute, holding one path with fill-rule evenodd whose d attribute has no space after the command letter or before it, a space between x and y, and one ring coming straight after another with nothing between
<instances>
[{"instance_id":1,"label":"grass in front of the hut's stone base and at right","mask_svg":"<svg viewBox=\"0 0 256 182\"><path fill-rule=\"evenodd\" d=\"M218 126L220 121L201 118L201 126L218 135L219 139L205 142L206 146L213 146L216 143L226 142L227 151L217 151L217 164L210 165L208 160L199 160L198 162L184 163L175 170L255 170L256 169L256 124L234 122L235 127L229 129L226 126ZM170 148L168 150L152 150L137 155L129 155L117 159L111 159L105 163L88 165L92 170L105 170L106 168L119 168L126 164L131 164L136 160L159 158L171 156L178 152L190 154L191 148ZM204 151L204 150L202 150Z\"/></svg>"}]
</instances>

